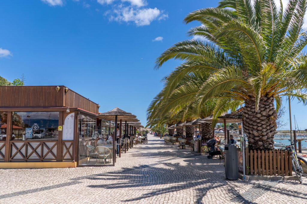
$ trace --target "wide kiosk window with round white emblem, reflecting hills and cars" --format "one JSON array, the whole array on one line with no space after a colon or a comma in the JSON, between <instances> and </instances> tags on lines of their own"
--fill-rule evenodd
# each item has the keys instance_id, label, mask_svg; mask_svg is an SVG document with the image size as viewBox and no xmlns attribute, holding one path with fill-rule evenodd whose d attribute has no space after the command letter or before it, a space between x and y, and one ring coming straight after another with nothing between
<instances>
[{"instance_id":1,"label":"wide kiosk window with round white emblem, reflecting hills and cars","mask_svg":"<svg viewBox=\"0 0 307 204\"><path fill-rule=\"evenodd\" d=\"M59 112L13 112L13 134L17 140L57 140Z\"/></svg>"}]
</instances>

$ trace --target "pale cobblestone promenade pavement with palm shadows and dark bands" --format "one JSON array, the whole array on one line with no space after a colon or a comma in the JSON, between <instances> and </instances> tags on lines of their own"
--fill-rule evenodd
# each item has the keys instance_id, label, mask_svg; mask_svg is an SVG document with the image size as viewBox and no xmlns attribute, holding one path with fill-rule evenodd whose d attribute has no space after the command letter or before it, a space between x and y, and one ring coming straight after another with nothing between
<instances>
[{"instance_id":1,"label":"pale cobblestone promenade pavement with palm shadows and dark bands","mask_svg":"<svg viewBox=\"0 0 307 204\"><path fill-rule=\"evenodd\" d=\"M307 203L307 179L229 181L219 159L148 138L115 167L0 169L0 203Z\"/></svg>"}]
</instances>

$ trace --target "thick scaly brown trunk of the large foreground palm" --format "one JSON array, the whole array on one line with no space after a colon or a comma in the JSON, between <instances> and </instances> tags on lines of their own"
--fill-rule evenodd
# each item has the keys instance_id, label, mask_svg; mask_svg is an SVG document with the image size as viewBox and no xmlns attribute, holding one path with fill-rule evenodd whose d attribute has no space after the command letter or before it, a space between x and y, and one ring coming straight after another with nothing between
<instances>
[{"instance_id":1,"label":"thick scaly brown trunk of the large foreground palm","mask_svg":"<svg viewBox=\"0 0 307 204\"><path fill-rule=\"evenodd\" d=\"M276 110L274 97L261 97L255 110L255 98L245 102L243 109L243 131L248 138L250 150L273 150L276 133Z\"/></svg>"}]
</instances>

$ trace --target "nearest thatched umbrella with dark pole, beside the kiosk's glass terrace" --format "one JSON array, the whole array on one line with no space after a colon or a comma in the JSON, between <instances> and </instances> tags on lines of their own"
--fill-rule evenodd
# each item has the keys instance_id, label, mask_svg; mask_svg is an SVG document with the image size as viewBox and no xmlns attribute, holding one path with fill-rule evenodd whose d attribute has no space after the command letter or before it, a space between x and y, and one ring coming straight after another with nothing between
<instances>
[{"instance_id":1,"label":"nearest thatched umbrella with dark pole, beside the kiosk's glass terrace","mask_svg":"<svg viewBox=\"0 0 307 204\"><path fill-rule=\"evenodd\" d=\"M117 130L117 120L120 120L120 123L122 123L122 120L128 120L128 119L132 119L132 118L136 118L135 115L132 115L131 113L127 113L126 111L123 111L122 109L119 108L115 108L112 109L106 113L101 113L100 115L97 116L97 118L101 118L104 120L108 120L108 121L115 121L115 134L114 134L114 138L113 138L113 165L115 165L116 162L116 150L115 150L115 142L116 142L116 130ZM121 127L121 125L120 125ZM121 132L120 132L121 134ZM120 153L120 152L119 152Z\"/></svg>"}]
</instances>

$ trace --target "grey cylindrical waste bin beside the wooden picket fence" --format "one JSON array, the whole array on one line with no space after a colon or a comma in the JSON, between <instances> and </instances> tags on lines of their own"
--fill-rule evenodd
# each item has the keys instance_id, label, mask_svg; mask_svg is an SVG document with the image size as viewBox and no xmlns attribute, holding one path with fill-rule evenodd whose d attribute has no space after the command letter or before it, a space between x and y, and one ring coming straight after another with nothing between
<instances>
[{"instance_id":1,"label":"grey cylindrical waste bin beside the wooden picket fence","mask_svg":"<svg viewBox=\"0 0 307 204\"><path fill-rule=\"evenodd\" d=\"M237 146L234 144L225 145L225 174L229 180L238 180L238 152Z\"/></svg>"}]
</instances>

